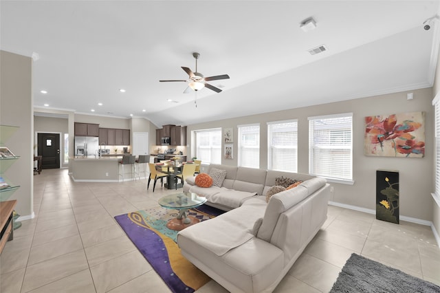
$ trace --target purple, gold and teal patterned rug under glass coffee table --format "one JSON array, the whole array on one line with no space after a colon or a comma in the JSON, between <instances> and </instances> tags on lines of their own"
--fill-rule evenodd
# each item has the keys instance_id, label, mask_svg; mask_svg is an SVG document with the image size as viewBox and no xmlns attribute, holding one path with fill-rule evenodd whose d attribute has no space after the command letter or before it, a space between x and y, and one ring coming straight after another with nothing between
<instances>
[{"instance_id":1,"label":"purple, gold and teal patterned rug under glass coffee table","mask_svg":"<svg viewBox=\"0 0 440 293\"><path fill-rule=\"evenodd\" d=\"M225 212L206 205L189 210L189 215L200 221L222 213ZM118 215L115 219L171 291L194 292L208 283L210 277L181 255L175 242L178 231L166 228L166 223L177 214L177 210L159 207Z\"/></svg>"}]
</instances>

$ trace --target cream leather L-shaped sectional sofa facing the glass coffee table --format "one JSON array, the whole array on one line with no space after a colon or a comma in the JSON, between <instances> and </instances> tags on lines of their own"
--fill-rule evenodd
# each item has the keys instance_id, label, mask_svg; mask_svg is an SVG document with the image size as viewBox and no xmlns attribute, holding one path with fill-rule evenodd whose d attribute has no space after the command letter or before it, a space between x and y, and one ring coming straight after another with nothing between
<instances>
[{"instance_id":1,"label":"cream leather L-shaped sectional sofa facing the glass coffee table","mask_svg":"<svg viewBox=\"0 0 440 293\"><path fill-rule=\"evenodd\" d=\"M181 253L230 292L272 292L327 219L330 186L306 174L212 168L227 171L220 187L200 189L188 178L184 191L206 195L208 204L229 211L181 230ZM281 176L303 183L266 202L265 193Z\"/></svg>"}]
</instances>

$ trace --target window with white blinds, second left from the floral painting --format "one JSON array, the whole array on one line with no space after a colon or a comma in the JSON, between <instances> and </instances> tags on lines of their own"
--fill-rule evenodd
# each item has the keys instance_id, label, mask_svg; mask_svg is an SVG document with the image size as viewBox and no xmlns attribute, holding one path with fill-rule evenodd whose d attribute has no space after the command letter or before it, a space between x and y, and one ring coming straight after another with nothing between
<instances>
[{"instance_id":1,"label":"window with white blinds, second left from the floral painting","mask_svg":"<svg viewBox=\"0 0 440 293\"><path fill-rule=\"evenodd\" d=\"M267 123L268 169L298 170L298 120Z\"/></svg>"}]
</instances>

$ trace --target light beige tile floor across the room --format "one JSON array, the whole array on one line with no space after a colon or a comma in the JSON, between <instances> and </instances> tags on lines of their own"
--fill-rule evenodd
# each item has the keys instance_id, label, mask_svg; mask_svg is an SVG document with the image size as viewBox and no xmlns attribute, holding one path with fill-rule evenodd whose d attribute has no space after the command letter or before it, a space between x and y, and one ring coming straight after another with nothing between
<instances>
[{"instance_id":1,"label":"light beige tile floor across the room","mask_svg":"<svg viewBox=\"0 0 440 293\"><path fill-rule=\"evenodd\" d=\"M158 206L168 193L146 180L73 182L65 169L34 176L36 217L23 221L0 256L0 292L170 292L113 216ZM440 285L432 230L329 206L328 219L275 292L329 292L358 253ZM214 281L197 292L227 292Z\"/></svg>"}]
</instances>

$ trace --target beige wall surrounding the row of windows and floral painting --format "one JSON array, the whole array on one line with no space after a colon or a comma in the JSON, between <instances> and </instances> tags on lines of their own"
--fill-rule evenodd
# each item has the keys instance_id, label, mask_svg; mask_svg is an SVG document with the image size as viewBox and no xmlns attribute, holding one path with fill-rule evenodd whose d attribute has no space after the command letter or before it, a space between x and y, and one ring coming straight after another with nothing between
<instances>
[{"instance_id":1,"label":"beige wall surrounding the row of windows and floral painting","mask_svg":"<svg viewBox=\"0 0 440 293\"><path fill-rule=\"evenodd\" d=\"M333 102L297 109L287 109L254 116L218 120L188 125L187 138L197 129L233 127L234 160L222 160L222 164L236 166L237 129L239 124L260 123L260 168L267 169L267 125L266 122L298 119L298 172L308 173L309 116L335 113L353 113L353 185L335 184L331 201L375 210L375 171L377 169L398 170L400 175L400 215L432 221L432 198L434 189L433 134L434 112L431 106L432 88L418 89L414 100L406 100L407 92L360 98L344 102ZM271 97L268 97L271 98ZM206 110L208 111L208 110ZM412 111L426 112L426 156L425 158L385 158L364 155L364 117ZM192 149L192 148L188 148ZM222 148L223 149L223 148ZM193 154L188 153L192 157Z\"/></svg>"}]
</instances>

